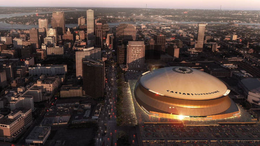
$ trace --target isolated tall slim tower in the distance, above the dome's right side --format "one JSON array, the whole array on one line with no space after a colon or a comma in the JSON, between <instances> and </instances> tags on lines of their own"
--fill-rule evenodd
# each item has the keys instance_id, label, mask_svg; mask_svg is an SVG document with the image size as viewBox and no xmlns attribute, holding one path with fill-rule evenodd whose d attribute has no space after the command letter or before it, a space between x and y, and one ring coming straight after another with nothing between
<instances>
[{"instance_id":1,"label":"isolated tall slim tower in the distance, above the dome's right side","mask_svg":"<svg viewBox=\"0 0 260 146\"><path fill-rule=\"evenodd\" d=\"M207 24L205 23L198 23L198 37L195 42L195 50L198 52L202 52L203 49L203 42L204 42L204 35L205 35L205 27Z\"/></svg>"}]
</instances>

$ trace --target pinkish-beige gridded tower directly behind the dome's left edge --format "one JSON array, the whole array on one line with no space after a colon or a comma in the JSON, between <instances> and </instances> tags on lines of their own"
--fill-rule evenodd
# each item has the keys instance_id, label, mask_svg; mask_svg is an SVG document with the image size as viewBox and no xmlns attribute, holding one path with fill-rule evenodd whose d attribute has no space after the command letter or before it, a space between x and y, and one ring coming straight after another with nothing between
<instances>
[{"instance_id":1,"label":"pinkish-beige gridded tower directly behind the dome's left edge","mask_svg":"<svg viewBox=\"0 0 260 146\"><path fill-rule=\"evenodd\" d=\"M127 45L126 68L128 72L144 71L145 45L143 41L129 41Z\"/></svg>"}]
</instances>

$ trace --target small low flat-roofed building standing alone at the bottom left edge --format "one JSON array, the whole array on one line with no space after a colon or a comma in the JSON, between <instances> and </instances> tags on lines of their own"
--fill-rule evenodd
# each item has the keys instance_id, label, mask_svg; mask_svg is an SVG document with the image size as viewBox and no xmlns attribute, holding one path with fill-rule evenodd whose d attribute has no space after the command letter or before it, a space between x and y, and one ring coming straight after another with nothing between
<instances>
[{"instance_id":1,"label":"small low flat-roofed building standing alone at the bottom left edge","mask_svg":"<svg viewBox=\"0 0 260 146\"><path fill-rule=\"evenodd\" d=\"M27 143L27 145L44 145L50 134L50 126L35 126L25 139L25 143Z\"/></svg>"}]
</instances>

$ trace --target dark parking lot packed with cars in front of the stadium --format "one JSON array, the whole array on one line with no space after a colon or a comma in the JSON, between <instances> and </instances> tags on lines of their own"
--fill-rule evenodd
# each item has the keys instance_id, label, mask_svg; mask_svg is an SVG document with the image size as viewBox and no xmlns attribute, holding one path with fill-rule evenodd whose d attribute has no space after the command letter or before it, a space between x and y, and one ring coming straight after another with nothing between
<instances>
[{"instance_id":1,"label":"dark parking lot packed with cars in front of the stadium","mask_svg":"<svg viewBox=\"0 0 260 146\"><path fill-rule=\"evenodd\" d=\"M143 141L252 141L260 140L259 125L183 126L142 125Z\"/></svg>"}]
</instances>

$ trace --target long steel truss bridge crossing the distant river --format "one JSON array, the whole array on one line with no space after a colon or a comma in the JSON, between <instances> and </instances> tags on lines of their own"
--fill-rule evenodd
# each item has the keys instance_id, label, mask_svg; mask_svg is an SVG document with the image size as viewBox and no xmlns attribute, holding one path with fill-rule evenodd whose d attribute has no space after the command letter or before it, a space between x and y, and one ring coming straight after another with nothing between
<instances>
[{"instance_id":1,"label":"long steel truss bridge crossing the distant river","mask_svg":"<svg viewBox=\"0 0 260 146\"><path fill-rule=\"evenodd\" d=\"M157 22L162 22L162 23L174 23L173 20L168 20L165 18L162 18L161 16L143 16L141 15L133 15L129 17L130 19L133 20L146 20L146 21L157 21Z\"/></svg>"}]
</instances>

